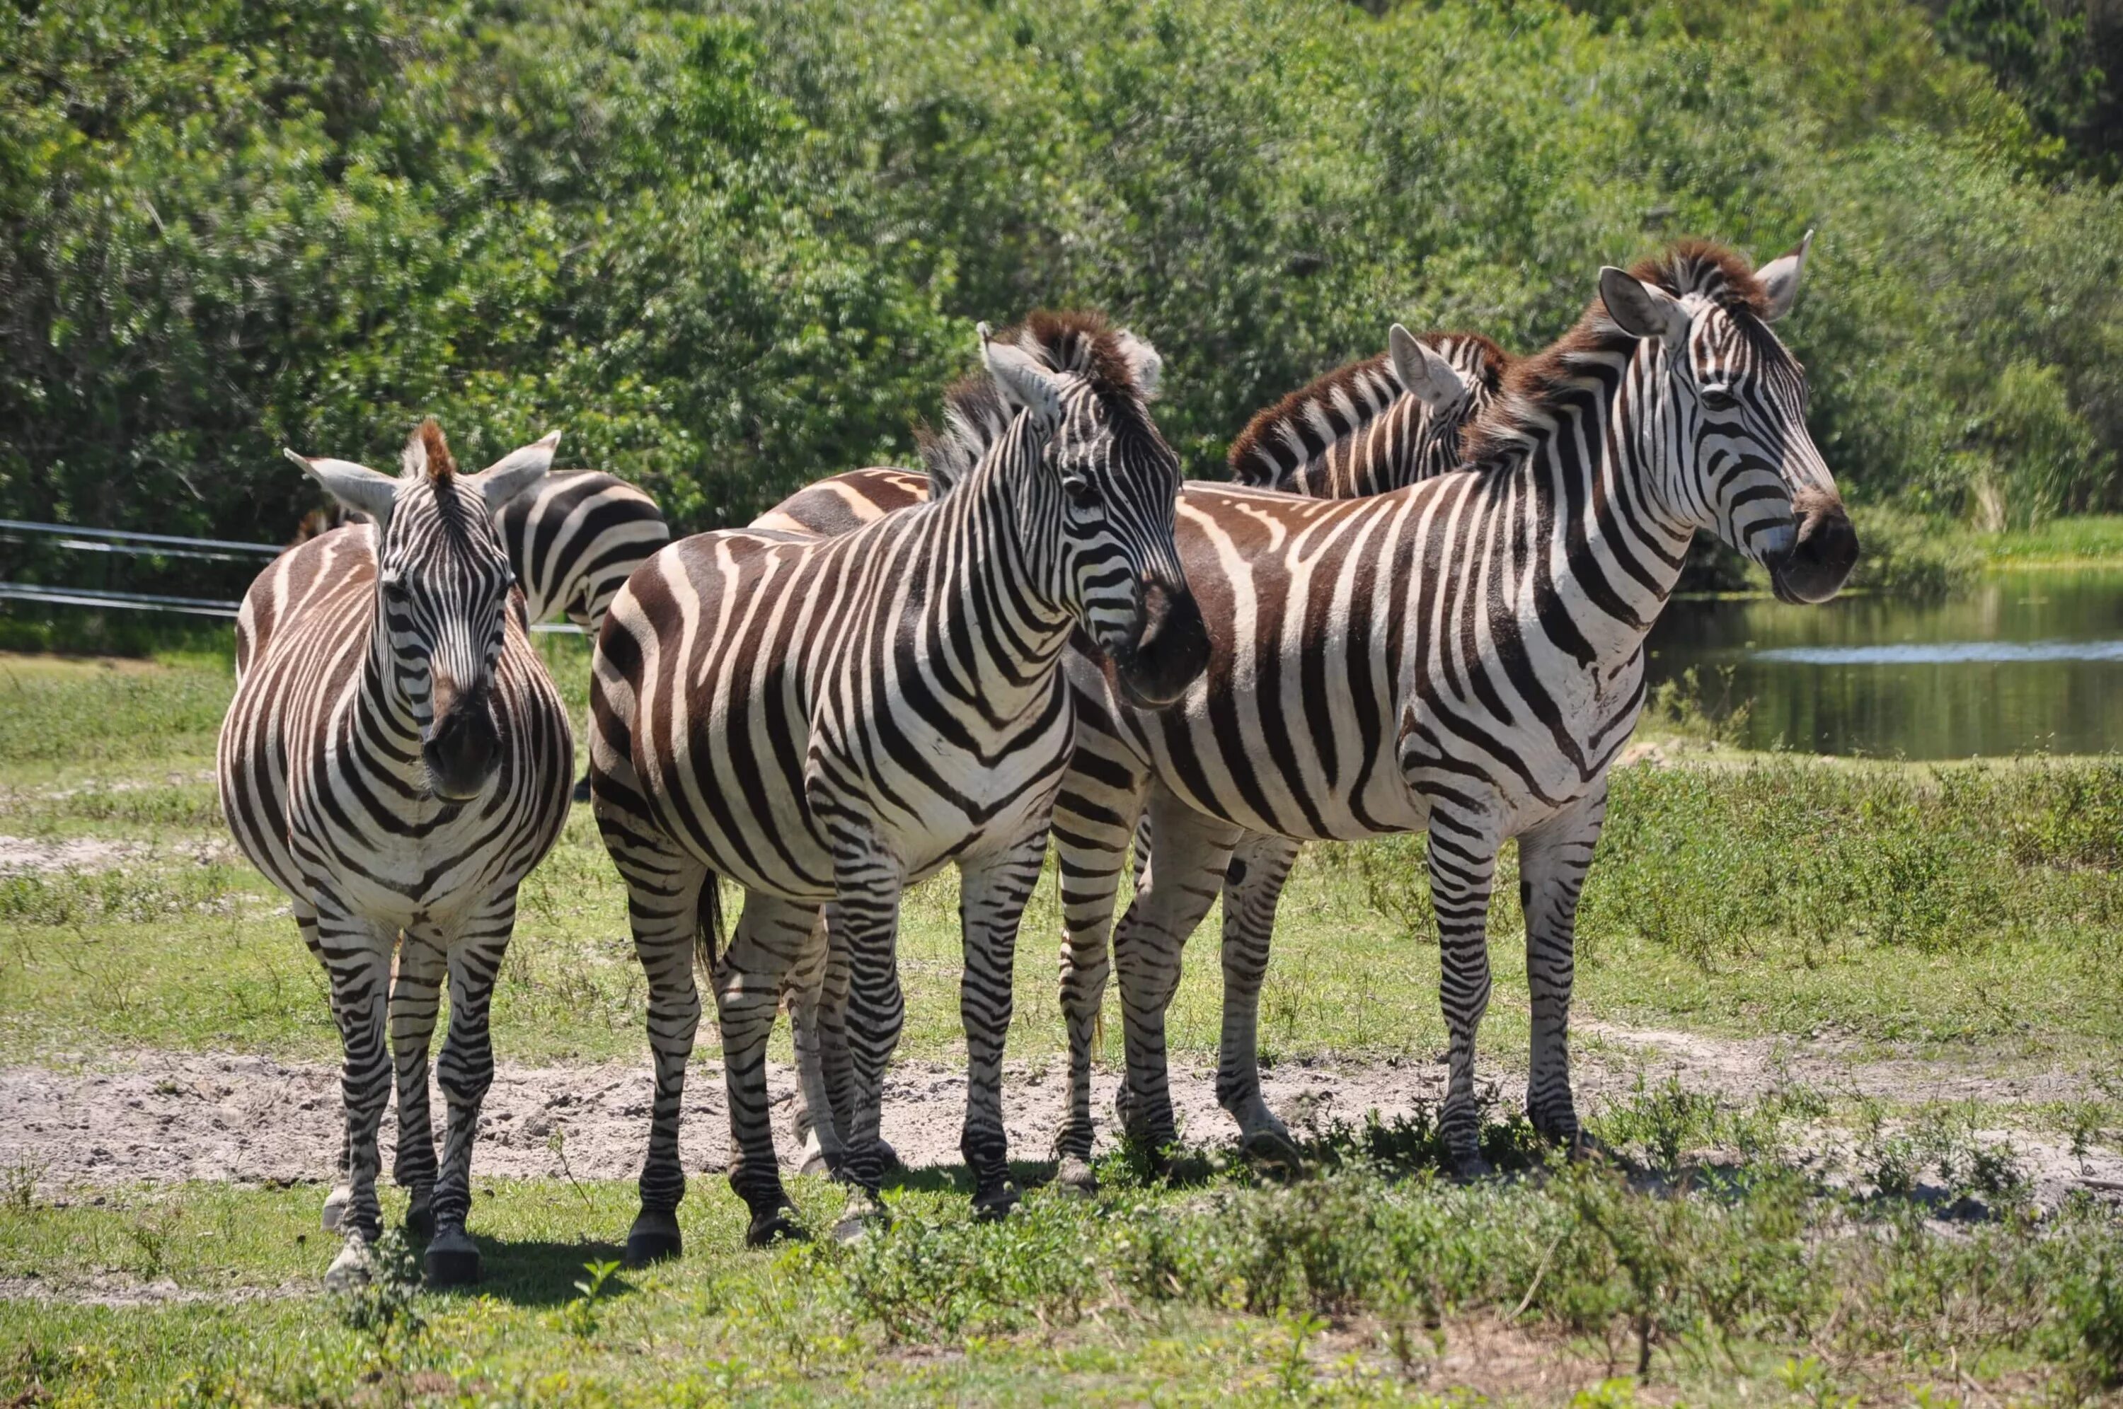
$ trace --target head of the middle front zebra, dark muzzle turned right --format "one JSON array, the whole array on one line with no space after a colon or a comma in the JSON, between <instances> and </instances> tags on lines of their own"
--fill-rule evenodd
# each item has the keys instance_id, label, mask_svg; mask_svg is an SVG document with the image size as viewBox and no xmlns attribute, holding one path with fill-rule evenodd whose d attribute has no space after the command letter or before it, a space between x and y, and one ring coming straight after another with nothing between
<instances>
[{"instance_id":1,"label":"head of the middle front zebra, dark muzzle turned right","mask_svg":"<svg viewBox=\"0 0 2123 1409\"><path fill-rule=\"evenodd\" d=\"M1028 550L1055 554L1045 579L1059 584L1123 694L1170 704L1208 666L1208 630L1172 539L1180 463L1146 405L1163 367L1157 350L1095 314L1040 312L994 337L983 323L981 354L1004 407L1055 403L1019 505ZM996 410L953 393L947 422L964 456ZM924 458L934 475L951 456L930 448Z\"/></svg>"}]
</instances>

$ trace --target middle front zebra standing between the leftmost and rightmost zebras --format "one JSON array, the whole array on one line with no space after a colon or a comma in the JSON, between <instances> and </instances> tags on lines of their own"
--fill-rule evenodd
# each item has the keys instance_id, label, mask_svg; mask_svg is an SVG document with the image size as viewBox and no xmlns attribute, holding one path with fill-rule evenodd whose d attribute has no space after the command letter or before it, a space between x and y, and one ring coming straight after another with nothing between
<instances>
[{"instance_id":1,"label":"middle front zebra standing between the leftmost and rightmost zebras","mask_svg":"<svg viewBox=\"0 0 2123 1409\"><path fill-rule=\"evenodd\" d=\"M745 889L705 953L722 1023L730 1186L747 1241L798 1229L766 1120L764 1040L832 904L845 944L849 1216L877 1218L877 1082L898 1040L898 898L957 864L968 1033L962 1150L974 1207L1006 1212L1000 1061L1017 921L1047 851L1074 728L1059 677L1074 630L1112 688L1176 698L1204 660L1172 550L1178 458L1146 410L1159 359L1095 314L1034 314L989 337L989 384L953 412L1004 420L955 488L836 539L739 528L650 558L611 603L590 692L592 808L628 887L650 974L656 1103L633 1260L677 1254L677 1118L698 1023L696 942L718 881ZM811 1093L817 1110L828 1097Z\"/></svg>"}]
</instances>

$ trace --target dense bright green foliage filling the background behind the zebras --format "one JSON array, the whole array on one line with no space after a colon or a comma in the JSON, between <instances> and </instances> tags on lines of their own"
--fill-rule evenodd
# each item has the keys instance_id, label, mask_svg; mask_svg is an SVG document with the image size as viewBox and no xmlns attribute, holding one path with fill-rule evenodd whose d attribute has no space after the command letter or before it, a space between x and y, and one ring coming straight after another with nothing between
<instances>
[{"instance_id":1,"label":"dense bright green foliage filling the background behind the zebras","mask_svg":"<svg viewBox=\"0 0 2123 1409\"><path fill-rule=\"evenodd\" d=\"M280 443L435 412L743 520L1038 303L1151 335L1212 473L1391 318L1533 348L1605 261L1809 225L1856 499L2117 503L2123 202L1904 0L45 0L0 59L6 516L280 539Z\"/></svg>"}]
</instances>

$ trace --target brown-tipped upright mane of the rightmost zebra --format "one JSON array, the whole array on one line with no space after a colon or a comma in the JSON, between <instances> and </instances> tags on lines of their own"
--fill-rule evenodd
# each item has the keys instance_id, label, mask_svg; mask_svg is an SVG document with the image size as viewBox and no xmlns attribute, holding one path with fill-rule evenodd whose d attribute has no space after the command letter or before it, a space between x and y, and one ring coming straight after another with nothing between
<instances>
[{"instance_id":1,"label":"brown-tipped upright mane of the rightmost zebra","mask_svg":"<svg viewBox=\"0 0 2123 1409\"><path fill-rule=\"evenodd\" d=\"M1722 244L1681 240L1662 255L1637 261L1628 272L1673 297L1696 293L1711 299L1734 314L1741 331L1749 337L1775 337L1764 323L1768 293L1762 289L1762 280L1754 276L1745 259ZM1497 401L1467 427L1461 460L1484 467L1509 458L1514 450L1524 450L1531 443L1533 422L1541 420L1546 410L1565 397L1582 393L1582 367L1618 356L1628 359L1635 350L1637 337L1622 331L1607 314L1607 303L1594 295L1577 325L1554 346L1512 363Z\"/></svg>"}]
</instances>

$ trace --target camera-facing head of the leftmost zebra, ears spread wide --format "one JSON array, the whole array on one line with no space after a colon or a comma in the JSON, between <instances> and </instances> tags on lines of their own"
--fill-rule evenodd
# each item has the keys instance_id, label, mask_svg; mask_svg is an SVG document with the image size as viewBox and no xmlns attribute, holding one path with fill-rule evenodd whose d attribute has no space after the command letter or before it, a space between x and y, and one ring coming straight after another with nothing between
<instances>
[{"instance_id":1,"label":"camera-facing head of the leftmost zebra, ears spread wide","mask_svg":"<svg viewBox=\"0 0 2123 1409\"><path fill-rule=\"evenodd\" d=\"M376 611L389 681L420 732L429 785L465 802L501 766L490 692L516 573L495 509L552 467L560 433L512 450L476 475L456 473L442 427L422 420L401 473L287 452L348 509L376 520Z\"/></svg>"}]
</instances>

